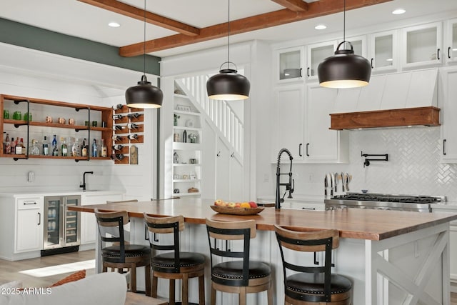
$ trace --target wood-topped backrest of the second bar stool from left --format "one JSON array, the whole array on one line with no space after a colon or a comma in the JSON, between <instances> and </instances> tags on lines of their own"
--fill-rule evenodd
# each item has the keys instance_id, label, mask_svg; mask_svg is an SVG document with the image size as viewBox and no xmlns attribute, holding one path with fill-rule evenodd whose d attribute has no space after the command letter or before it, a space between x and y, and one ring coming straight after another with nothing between
<instances>
[{"instance_id":1,"label":"wood-topped backrest of the second bar stool from left","mask_svg":"<svg viewBox=\"0 0 457 305\"><path fill-rule=\"evenodd\" d=\"M180 257L179 257L179 231L184 230L184 216L170 216L170 217L154 217L146 213L144 220L146 221L146 229L149 236L149 246L153 251L174 251L174 273L180 273ZM171 244L159 244L156 239L156 234L173 234L173 242ZM158 266L157 271L170 271L169 268L161 270Z\"/></svg>"}]
</instances>

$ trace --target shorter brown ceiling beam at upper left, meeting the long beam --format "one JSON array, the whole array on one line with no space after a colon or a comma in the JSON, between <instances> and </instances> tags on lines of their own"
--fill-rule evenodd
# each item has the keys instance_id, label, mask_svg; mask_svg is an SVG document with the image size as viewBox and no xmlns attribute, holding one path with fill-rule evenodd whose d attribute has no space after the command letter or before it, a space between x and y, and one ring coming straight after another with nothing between
<instances>
[{"instance_id":1,"label":"shorter brown ceiling beam at upper left, meeting the long beam","mask_svg":"<svg viewBox=\"0 0 457 305\"><path fill-rule=\"evenodd\" d=\"M97 6L107 11L113 11L114 13L129 16L134 19L144 21L144 9L139 9L135 6L125 4L116 0L78 0L86 4ZM146 11L146 22L154 24L155 26L161 26L162 28L176 31L185 36L197 36L200 34L200 29L190 26L189 24L183 24L179 21L160 16L149 11Z\"/></svg>"}]
</instances>

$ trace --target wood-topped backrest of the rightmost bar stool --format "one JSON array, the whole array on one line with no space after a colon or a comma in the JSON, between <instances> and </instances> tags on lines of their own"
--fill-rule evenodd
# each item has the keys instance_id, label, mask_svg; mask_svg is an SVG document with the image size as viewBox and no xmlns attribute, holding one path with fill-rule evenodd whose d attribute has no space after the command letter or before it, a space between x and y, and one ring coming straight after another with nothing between
<instances>
[{"instance_id":1,"label":"wood-topped backrest of the rightmost bar stool","mask_svg":"<svg viewBox=\"0 0 457 305\"><path fill-rule=\"evenodd\" d=\"M323 296L316 296L316 301L328 302L331 299L331 250L339 245L338 230L322 230L322 231L292 231L285 229L282 226L274 225L276 232L276 239L281 252L281 259L283 261L283 277L284 285L288 270L298 271L308 274L323 274L324 288ZM291 261L291 257L284 254L284 249L291 249L293 251L302 252L316 252L325 251L324 264L316 266L314 262L311 264L298 265ZM303 259L300 259L303 263ZM287 290L287 289L286 289Z\"/></svg>"}]
</instances>

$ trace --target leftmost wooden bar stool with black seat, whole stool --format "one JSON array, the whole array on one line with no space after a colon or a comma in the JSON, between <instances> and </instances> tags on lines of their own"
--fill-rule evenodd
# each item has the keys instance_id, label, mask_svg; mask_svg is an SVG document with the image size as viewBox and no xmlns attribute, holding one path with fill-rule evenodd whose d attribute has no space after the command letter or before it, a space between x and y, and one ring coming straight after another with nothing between
<instances>
[{"instance_id":1,"label":"leftmost wooden bar stool with black seat, whole stool","mask_svg":"<svg viewBox=\"0 0 457 305\"><path fill-rule=\"evenodd\" d=\"M104 212L95 209L101 242L103 272L108 268L130 270L130 291L136 292L136 268L144 266L146 296L151 296L151 249L149 246L128 244L124 225L129 223L126 211Z\"/></svg>"}]
</instances>

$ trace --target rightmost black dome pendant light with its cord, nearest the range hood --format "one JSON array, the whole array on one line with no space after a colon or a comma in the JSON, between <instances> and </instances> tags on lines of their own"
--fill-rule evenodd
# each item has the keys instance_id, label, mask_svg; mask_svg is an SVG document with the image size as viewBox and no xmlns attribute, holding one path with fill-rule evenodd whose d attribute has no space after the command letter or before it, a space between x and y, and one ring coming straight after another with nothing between
<instances>
[{"instance_id":1,"label":"rightmost black dome pendant light with its cord, nearest the range hood","mask_svg":"<svg viewBox=\"0 0 457 305\"><path fill-rule=\"evenodd\" d=\"M349 44L351 49L340 46ZM346 41L346 0L343 9L343 41L338 44L335 55L327 57L318 65L319 84L328 88L353 88L368 85L371 64L363 56L354 54L351 42Z\"/></svg>"}]
</instances>

